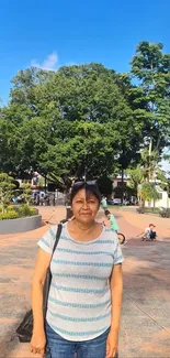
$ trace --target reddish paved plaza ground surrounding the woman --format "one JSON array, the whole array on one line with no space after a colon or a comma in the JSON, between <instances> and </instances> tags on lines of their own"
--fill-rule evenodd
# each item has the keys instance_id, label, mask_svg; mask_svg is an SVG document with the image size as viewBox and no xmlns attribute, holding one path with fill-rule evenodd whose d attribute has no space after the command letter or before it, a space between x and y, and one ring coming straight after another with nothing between
<instances>
[{"instance_id":1,"label":"reddish paved plaza ground surrounding the woman","mask_svg":"<svg viewBox=\"0 0 170 358\"><path fill-rule=\"evenodd\" d=\"M41 213L43 219L52 224L65 217L64 207L42 207ZM121 209L114 209L114 214L128 241L123 246L120 358L170 358L170 219ZM102 213L99 219L101 216ZM136 238L149 223L157 225L159 238L156 242ZM18 339L11 343L10 337L30 308L36 242L47 227L0 236L0 357L35 357L27 344L20 344Z\"/></svg>"}]
</instances>

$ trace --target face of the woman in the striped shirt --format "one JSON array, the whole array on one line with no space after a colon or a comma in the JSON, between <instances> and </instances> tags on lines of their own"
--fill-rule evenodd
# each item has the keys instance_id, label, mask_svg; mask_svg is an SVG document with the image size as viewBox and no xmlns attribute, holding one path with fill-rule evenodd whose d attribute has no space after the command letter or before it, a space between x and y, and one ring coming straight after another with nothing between
<instances>
[{"instance_id":1,"label":"face of the woman in the striped shirt","mask_svg":"<svg viewBox=\"0 0 170 358\"><path fill-rule=\"evenodd\" d=\"M86 189L80 189L72 200L75 218L80 223L92 223L99 209L99 200L93 194L86 195Z\"/></svg>"}]
</instances>

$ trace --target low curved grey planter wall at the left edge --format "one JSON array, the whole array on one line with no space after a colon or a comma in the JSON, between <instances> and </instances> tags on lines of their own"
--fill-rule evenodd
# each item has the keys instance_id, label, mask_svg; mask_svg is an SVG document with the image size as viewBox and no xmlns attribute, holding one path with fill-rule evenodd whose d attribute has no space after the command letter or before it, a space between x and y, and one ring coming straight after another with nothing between
<instances>
[{"instance_id":1,"label":"low curved grey planter wall at the left edge","mask_svg":"<svg viewBox=\"0 0 170 358\"><path fill-rule=\"evenodd\" d=\"M31 231L42 226L42 215L0 220L0 235Z\"/></svg>"}]
</instances>

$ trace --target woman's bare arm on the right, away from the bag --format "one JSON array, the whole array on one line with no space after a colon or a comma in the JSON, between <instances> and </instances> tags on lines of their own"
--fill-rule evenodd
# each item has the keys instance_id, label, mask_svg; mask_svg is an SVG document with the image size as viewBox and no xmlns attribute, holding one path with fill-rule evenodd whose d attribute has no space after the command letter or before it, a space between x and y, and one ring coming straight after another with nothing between
<instances>
[{"instance_id":1,"label":"woman's bare arm on the right, away from the bag","mask_svg":"<svg viewBox=\"0 0 170 358\"><path fill-rule=\"evenodd\" d=\"M123 278L122 264L115 264L110 280L112 319L106 341L106 358L114 357L118 347L118 330L122 308Z\"/></svg>"}]
</instances>

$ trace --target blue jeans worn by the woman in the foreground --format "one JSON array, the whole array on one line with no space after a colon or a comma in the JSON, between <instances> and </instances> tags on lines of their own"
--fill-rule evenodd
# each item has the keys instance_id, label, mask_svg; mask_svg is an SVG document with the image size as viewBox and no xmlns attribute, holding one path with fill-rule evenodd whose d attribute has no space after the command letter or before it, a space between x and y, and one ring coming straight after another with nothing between
<instances>
[{"instance_id":1,"label":"blue jeans worn by the woman in the foreground","mask_svg":"<svg viewBox=\"0 0 170 358\"><path fill-rule=\"evenodd\" d=\"M110 329L91 340L71 341L59 336L46 323L45 358L105 358L109 332Z\"/></svg>"}]
</instances>

